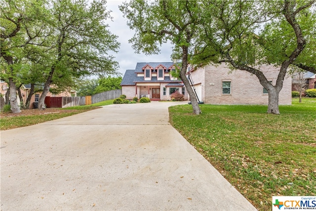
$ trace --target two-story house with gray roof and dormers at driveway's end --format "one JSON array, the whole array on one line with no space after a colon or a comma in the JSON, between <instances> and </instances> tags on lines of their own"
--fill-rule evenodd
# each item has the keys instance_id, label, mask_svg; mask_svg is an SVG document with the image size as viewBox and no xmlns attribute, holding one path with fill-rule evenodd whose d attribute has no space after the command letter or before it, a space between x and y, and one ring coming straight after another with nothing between
<instances>
[{"instance_id":1,"label":"two-story house with gray roof and dormers at driveway's end","mask_svg":"<svg viewBox=\"0 0 316 211\"><path fill-rule=\"evenodd\" d=\"M178 91L188 99L188 94L182 81L174 78L173 62L138 62L135 70L126 70L121 86L122 94L127 99L133 97L148 97L151 100L170 100L171 94Z\"/></svg>"}]
</instances>

